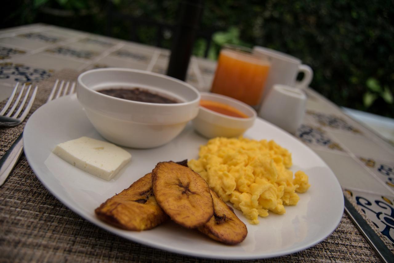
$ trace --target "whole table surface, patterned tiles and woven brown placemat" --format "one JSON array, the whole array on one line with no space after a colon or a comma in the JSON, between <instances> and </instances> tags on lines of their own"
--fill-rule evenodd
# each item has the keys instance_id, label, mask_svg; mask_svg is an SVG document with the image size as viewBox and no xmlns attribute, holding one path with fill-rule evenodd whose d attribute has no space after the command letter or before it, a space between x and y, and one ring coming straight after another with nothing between
<instances>
[{"instance_id":1,"label":"whole table surface, patterned tiles and woven brown placemat","mask_svg":"<svg viewBox=\"0 0 394 263\"><path fill-rule=\"evenodd\" d=\"M81 71L102 67L165 73L168 59L166 49L47 24L0 30L0 101L16 81L39 83L32 113L45 103L57 78L75 81ZM192 57L186 81L208 91L215 68L214 61ZM294 135L331 167L346 200L394 252L394 148L312 88L306 92L307 114ZM23 127L0 128L0 156ZM125 242L85 221L46 190L23 154L0 188L0 255L10 262L207 261ZM323 242L267 261L316 260L379 261L379 257L344 214Z\"/></svg>"}]
</instances>

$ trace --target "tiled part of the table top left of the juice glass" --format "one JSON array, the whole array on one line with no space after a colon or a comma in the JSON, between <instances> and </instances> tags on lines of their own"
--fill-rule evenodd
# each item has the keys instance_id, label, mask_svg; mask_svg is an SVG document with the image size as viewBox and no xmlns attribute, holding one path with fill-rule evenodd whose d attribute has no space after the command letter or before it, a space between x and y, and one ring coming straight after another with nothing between
<instances>
[{"instance_id":1,"label":"tiled part of the table top left of the juice glass","mask_svg":"<svg viewBox=\"0 0 394 263\"><path fill-rule=\"evenodd\" d=\"M39 81L63 68L124 67L165 73L169 50L33 24L0 30L0 88L4 99L16 81ZM207 90L215 62L193 58L187 82Z\"/></svg>"}]
</instances>

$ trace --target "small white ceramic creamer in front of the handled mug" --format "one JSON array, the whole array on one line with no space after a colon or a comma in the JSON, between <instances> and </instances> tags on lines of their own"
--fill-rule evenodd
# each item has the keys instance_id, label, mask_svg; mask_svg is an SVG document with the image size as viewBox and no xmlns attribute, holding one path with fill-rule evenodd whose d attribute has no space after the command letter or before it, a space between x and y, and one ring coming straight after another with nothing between
<instances>
[{"instance_id":1,"label":"small white ceramic creamer in front of the handled mug","mask_svg":"<svg viewBox=\"0 0 394 263\"><path fill-rule=\"evenodd\" d=\"M305 116L307 96L300 88L275 84L269 90L258 116L290 133L296 133Z\"/></svg>"}]
</instances>

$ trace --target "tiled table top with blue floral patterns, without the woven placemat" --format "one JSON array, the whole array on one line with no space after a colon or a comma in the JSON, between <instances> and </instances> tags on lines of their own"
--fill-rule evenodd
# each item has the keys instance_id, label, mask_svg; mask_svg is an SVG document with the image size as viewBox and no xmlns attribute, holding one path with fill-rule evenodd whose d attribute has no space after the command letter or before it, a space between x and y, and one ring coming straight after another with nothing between
<instances>
[{"instance_id":1,"label":"tiled table top with blue floral patterns, without the woven placemat","mask_svg":"<svg viewBox=\"0 0 394 263\"><path fill-rule=\"evenodd\" d=\"M66 28L32 24L0 30L0 100L17 81L57 70L125 67L165 73L169 51ZM187 82L208 91L216 62L191 59ZM312 89L296 137L334 171L342 188L394 244L394 148Z\"/></svg>"}]
</instances>

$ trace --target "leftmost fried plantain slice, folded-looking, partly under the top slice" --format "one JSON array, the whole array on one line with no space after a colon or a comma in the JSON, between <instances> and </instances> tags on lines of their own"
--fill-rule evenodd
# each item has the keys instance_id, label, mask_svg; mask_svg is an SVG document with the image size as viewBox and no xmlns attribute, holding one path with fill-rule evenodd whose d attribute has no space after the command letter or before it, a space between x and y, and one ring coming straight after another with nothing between
<instances>
[{"instance_id":1,"label":"leftmost fried plantain slice, folded-looking, partly under the top slice","mask_svg":"<svg viewBox=\"0 0 394 263\"><path fill-rule=\"evenodd\" d=\"M110 225L132 231L151 229L168 219L153 195L152 173L102 203L95 213Z\"/></svg>"}]
</instances>

